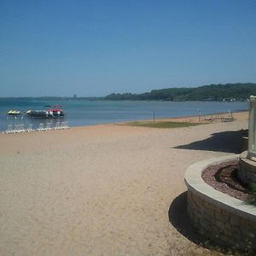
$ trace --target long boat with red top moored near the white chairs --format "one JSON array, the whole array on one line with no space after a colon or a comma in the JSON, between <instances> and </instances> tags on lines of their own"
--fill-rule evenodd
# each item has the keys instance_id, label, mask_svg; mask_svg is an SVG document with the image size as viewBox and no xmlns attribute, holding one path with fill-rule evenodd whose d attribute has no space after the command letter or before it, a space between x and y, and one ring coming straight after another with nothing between
<instances>
[{"instance_id":1,"label":"long boat with red top moored near the white chairs","mask_svg":"<svg viewBox=\"0 0 256 256\"><path fill-rule=\"evenodd\" d=\"M27 110L26 115L29 118L38 118L38 119L54 119L54 118L63 118L65 112L61 109L61 106L55 106L54 108L49 108L47 110Z\"/></svg>"}]
</instances>

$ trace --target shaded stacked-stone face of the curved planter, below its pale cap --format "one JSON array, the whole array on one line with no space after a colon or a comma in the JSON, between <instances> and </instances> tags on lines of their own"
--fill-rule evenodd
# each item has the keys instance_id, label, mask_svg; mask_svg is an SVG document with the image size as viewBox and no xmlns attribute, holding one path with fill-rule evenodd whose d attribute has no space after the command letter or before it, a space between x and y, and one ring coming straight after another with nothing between
<instances>
[{"instance_id":1,"label":"shaded stacked-stone face of the curved planter, below its pale cap","mask_svg":"<svg viewBox=\"0 0 256 256\"><path fill-rule=\"evenodd\" d=\"M188 192L188 213L191 223L209 240L220 245L256 249L256 223L214 205L212 201Z\"/></svg>"}]
</instances>

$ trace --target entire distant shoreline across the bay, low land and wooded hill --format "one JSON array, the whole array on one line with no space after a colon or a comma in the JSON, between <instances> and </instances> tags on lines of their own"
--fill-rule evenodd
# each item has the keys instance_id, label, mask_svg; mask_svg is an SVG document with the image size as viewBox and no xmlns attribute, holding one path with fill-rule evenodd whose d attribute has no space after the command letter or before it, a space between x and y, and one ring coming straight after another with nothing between
<instances>
[{"instance_id":1,"label":"entire distant shoreline across the bay, low land and wooded hill","mask_svg":"<svg viewBox=\"0 0 256 256\"><path fill-rule=\"evenodd\" d=\"M112 93L108 96L26 96L2 97L1 99L45 101L166 101L166 102L245 102L256 95L255 83L209 84L199 87L171 87L144 93Z\"/></svg>"}]
</instances>

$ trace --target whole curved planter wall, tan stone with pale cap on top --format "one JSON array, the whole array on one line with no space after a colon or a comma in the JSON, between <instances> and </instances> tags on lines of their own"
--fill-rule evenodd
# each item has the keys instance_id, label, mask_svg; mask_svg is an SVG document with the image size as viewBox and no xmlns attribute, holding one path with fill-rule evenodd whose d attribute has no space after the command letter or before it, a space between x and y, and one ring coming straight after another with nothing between
<instances>
[{"instance_id":1,"label":"whole curved planter wall, tan stone with pale cap on top","mask_svg":"<svg viewBox=\"0 0 256 256\"><path fill-rule=\"evenodd\" d=\"M225 195L203 181L207 166L236 160L238 156L205 160L189 166L185 173L191 224L220 245L256 251L256 207Z\"/></svg>"}]
</instances>

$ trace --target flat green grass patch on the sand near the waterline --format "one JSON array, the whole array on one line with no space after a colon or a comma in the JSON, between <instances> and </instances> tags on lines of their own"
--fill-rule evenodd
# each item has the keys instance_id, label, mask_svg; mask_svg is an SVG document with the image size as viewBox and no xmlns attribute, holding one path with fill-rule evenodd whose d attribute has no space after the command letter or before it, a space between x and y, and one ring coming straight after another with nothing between
<instances>
[{"instance_id":1,"label":"flat green grass patch on the sand near the waterline","mask_svg":"<svg viewBox=\"0 0 256 256\"><path fill-rule=\"evenodd\" d=\"M150 128L182 128L195 125L201 125L199 123L185 123L185 122L172 122L172 121L162 121L162 122L129 122L127 125L139 126L139 127L150 127Z\"/></svg>"}]
</instances>

